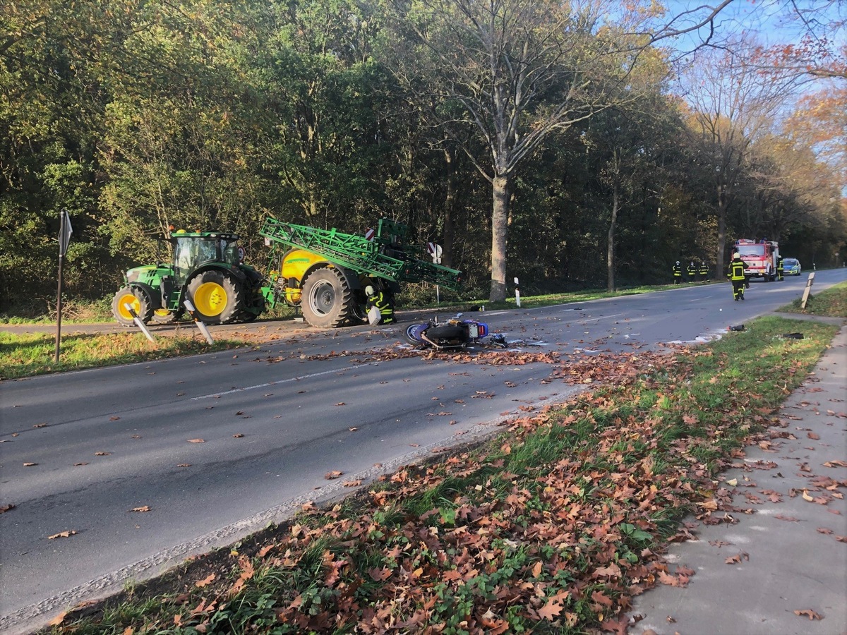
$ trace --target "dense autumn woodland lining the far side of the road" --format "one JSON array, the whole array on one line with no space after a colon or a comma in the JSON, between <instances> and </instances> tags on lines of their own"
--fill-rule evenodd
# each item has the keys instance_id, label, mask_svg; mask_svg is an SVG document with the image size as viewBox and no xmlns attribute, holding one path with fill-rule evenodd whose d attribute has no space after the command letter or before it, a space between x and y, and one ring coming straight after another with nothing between
<instances>
[{"instance_id":1,"label":"dense autumn woodland lining the far side of the road","mask_svg":"<svg viewBox=\"0 0 847 635\"><path fill-rule=\"evenodd\" d=\"M805 269L847 257L845 47L825 37L711 46L714 11L597 0L0 7L0 312L55 301L63 208L78 299L166 258L169 225L235 231L265 268L268 215L396 218L493 300L514 276L719 277L738 237ZM712 40L683 58L680 30Z\"/></svg>"}]
</instances>

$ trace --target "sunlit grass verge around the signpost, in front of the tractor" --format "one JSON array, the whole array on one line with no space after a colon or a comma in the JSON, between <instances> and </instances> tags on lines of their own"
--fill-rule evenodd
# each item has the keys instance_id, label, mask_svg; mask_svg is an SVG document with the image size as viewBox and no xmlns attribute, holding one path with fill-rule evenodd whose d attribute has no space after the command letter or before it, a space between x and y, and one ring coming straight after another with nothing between
<instances>
[{"instance_id":1,"label":"sunlit grass verge around the signpost, in front of the tractor","mask_svg":"<svg viewBox=\"0 0 847 635\"><path fill-rule=\"evenodd\" d=\"M197 355L244 345L237 340L215 340L209 345L199 336L160 337L151 342L141 333L69 334L62 336L57 363L55 334L0 332L0 379Z\"/></svg>"}]
</instances>

